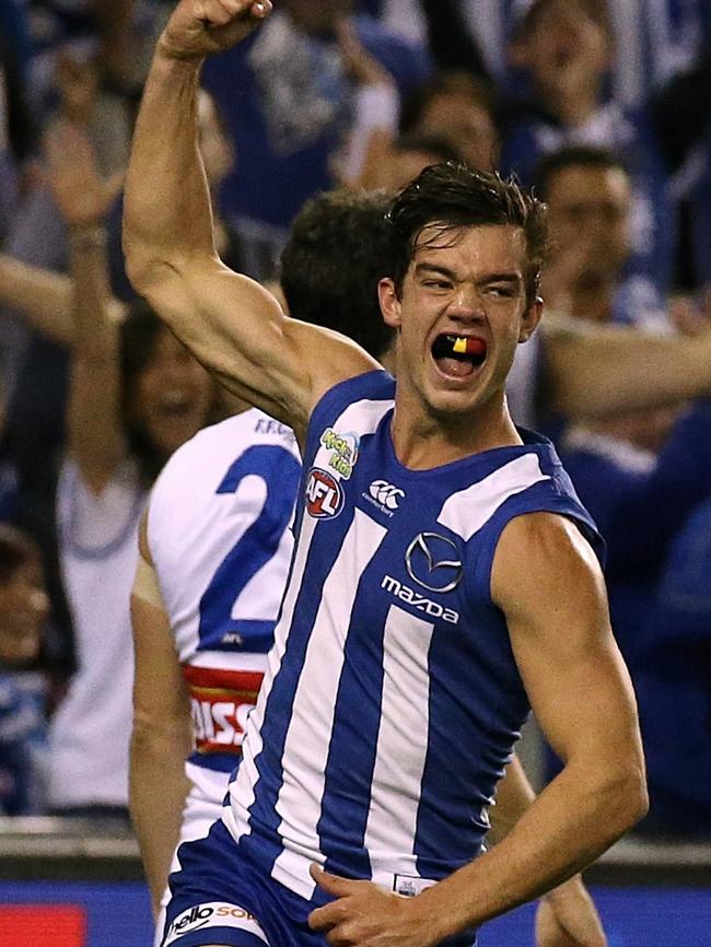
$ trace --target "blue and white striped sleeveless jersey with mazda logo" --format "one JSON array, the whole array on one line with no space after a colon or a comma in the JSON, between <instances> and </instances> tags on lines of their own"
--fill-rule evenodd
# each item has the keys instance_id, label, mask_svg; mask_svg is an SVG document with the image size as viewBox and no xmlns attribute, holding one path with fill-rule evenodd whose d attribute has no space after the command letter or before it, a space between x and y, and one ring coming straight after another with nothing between
<instances>
[{"instance_id":1,"label":"blue and white striped sleeveless jersey with mazda logo","mask_svg":"<svg viewBox=\"0 0 711 947\"><path fill-rule=\"evenodd\" d=\"M404 467L394 391L372 372L314 410L290 581L223 812L261 870L316 902L312 862L408 895L480 852L529 711L490 596L497 542L512 517L551 511L602 543L537 434Z\"/></svg>"}]
</instances>

